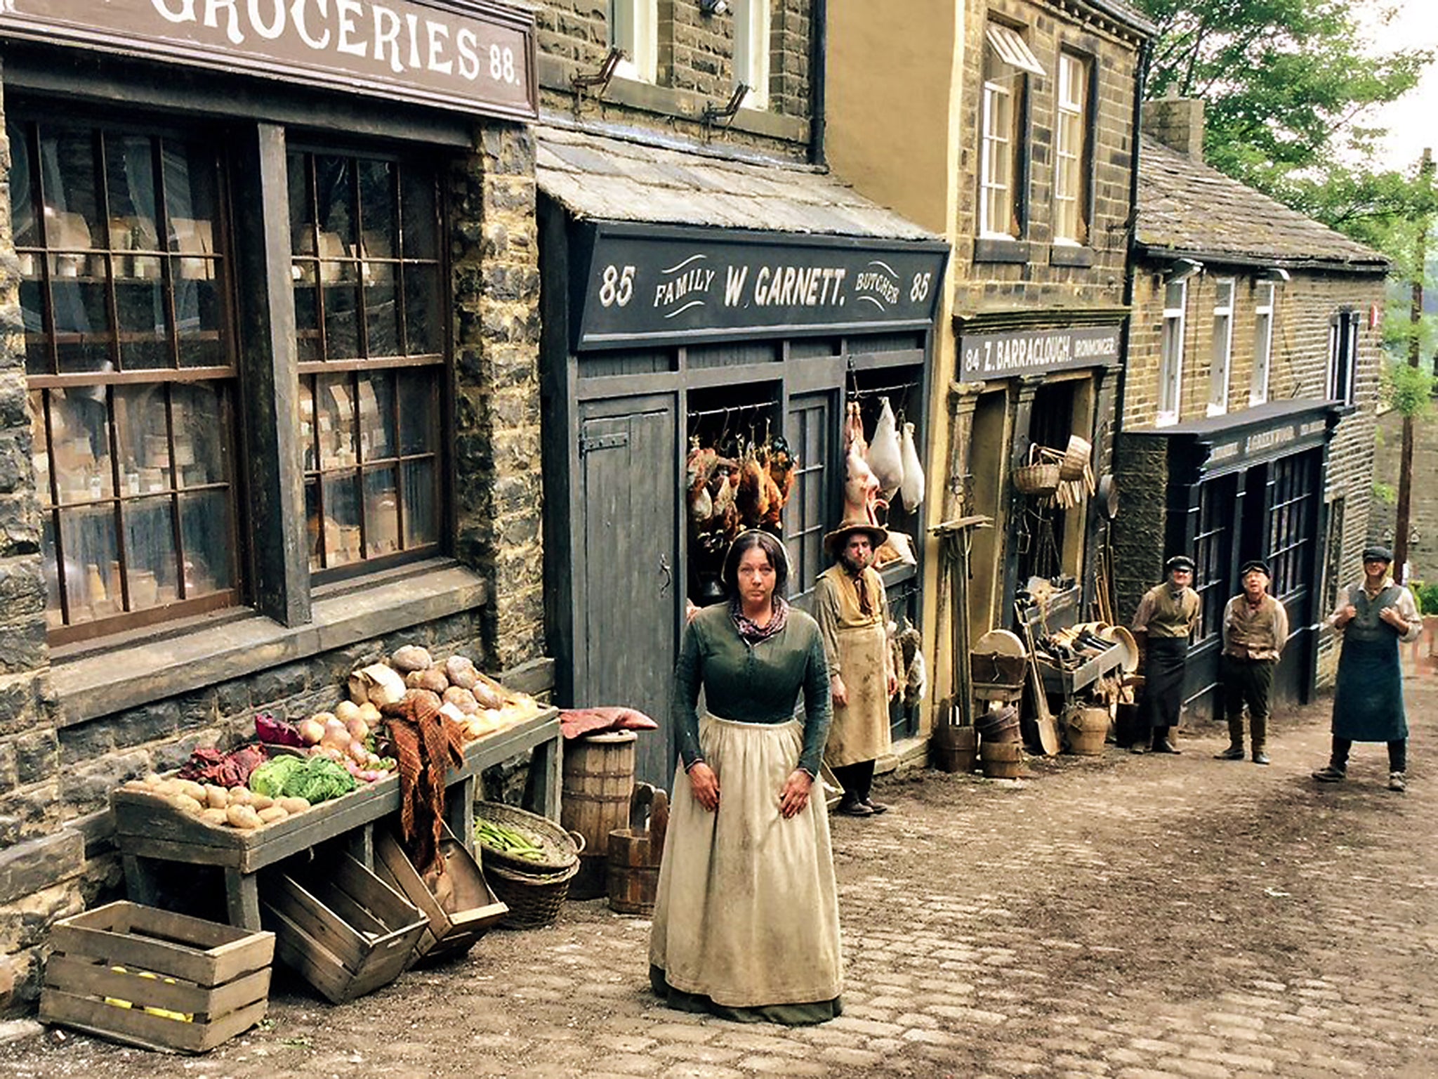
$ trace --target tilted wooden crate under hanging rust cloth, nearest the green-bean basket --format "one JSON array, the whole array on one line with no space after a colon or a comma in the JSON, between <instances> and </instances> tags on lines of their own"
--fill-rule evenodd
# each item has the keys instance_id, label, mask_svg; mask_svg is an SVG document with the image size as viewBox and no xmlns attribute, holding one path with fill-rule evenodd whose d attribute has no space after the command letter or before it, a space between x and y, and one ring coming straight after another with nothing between
<instances>
[{"instance_id":1,"label":"tilted wooden crate under hanging rust cloth, nearest the green-bean basket","mask_svg":"<svg viewBox=\"0 0 1438 1079\"><path fill-rule=\"evenodd\" d=\"M388 829L375 830L374 870L429 919L414 947L414 961L463 955L509 914L509 908L490 891L479 862L449 829L440 840L440 855L453 883L453 893L446 902L440 902L424 883L395 834Z\"/></svg>"}]
</instances>

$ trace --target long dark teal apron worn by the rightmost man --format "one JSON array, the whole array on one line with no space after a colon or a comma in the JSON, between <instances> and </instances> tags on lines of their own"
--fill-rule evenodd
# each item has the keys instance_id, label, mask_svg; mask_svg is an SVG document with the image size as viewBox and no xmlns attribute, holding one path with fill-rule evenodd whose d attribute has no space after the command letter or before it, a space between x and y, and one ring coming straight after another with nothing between
<instances>
[{"instance_id":1,"label":"long dark teal apron worn by the rightmost man","mask_svg":"<svg viewBox=\"0 0 1438 1079\"><path fill-rule=\"evenodd\" d=\"M1339 738L1391 742L1408 737L1398 630L1379 617L1401 594L1396 584L1372 600L1362 587L1349 590L1349 603L1357 614L1343 627L1333 692L1333 734Z\"/></svg>"}]
</instances>

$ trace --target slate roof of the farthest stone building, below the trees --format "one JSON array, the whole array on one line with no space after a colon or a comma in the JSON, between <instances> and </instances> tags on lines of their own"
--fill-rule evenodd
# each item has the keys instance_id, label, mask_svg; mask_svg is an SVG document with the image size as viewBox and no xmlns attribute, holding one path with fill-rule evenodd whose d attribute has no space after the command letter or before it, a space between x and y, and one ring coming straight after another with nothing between
<instances>
[{"instance_id":1,"label":"slate roof of the farthest stone building, below the trees","mask_svg":"<svg viewBox=\"0 0 1438 1079\"><path fill-rule=\"evenodd\" d=\"M1357 240L1145 135L1139 147L1137 243L1271 266L1382 272L1388 259Z\"/></svg>"}]
</instances>

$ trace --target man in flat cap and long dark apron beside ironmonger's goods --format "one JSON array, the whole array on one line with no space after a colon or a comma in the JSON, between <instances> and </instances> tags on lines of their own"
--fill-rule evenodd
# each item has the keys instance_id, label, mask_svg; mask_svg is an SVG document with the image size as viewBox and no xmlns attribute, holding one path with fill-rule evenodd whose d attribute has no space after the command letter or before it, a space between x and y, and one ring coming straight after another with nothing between
<instances>
[{"instance_id":1,"label":"man in flat cap and long dark apron beside ironmonger's goods","mask_svg":"<svg viewBox=\"0 0 1438 1079\"><path fill-rule=\"evenodd\" d=\"M1178 727L1183 708L1183 672L1188 642L1198 627L1199 601L1194 591L1194 560L1176 554L1163 564L1168 580L1155 584L1139 601L1133 616L1133 637L1143 660L1143 696L1139 722L1152 729L1150 752L1178 752L1169 731ZM1129 747L1143 752L1142 741Z\"/></svg>"}]
</instances>

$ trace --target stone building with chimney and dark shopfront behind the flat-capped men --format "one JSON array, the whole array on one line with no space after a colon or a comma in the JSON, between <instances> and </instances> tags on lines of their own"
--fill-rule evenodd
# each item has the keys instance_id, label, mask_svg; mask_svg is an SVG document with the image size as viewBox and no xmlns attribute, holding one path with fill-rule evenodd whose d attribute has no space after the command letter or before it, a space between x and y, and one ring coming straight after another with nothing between
<instances>
[{"instance_id":1,"label":"stone building with chimney and dark shopfront behind the flat-capped men","mask_svg":"<svg viewBox=\"0 0 1438 1079\"><path fill-rule=\"evenodd\" d=\"M1263 558L1293 634L1277 692L1332 679L1311 626L1356 573L1372 496L1385 259L1202 164L1201 102L1145 106L1113 527L1119 610L1198 563L1191 714L1214 711L1219 616ZM1168 138L1173 145L1160 140Z\"/></svg>"}]
</instances>

